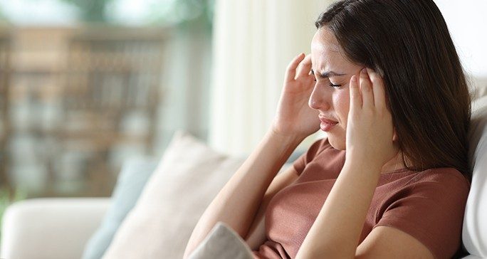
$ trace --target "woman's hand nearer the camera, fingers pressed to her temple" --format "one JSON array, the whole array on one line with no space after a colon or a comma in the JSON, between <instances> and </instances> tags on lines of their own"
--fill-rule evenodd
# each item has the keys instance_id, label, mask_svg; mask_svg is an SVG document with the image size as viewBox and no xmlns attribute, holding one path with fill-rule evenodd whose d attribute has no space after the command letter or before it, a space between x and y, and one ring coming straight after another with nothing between
<instances>
[{"instance_id":1,"label":"woman's hand nearer the camera, fingers pressed to her temple","mask_svg":"<svg viewBox=\"0 0 487 259\"><path fill-rule=\"evenodd\" d=\"M347 120L347 157L371 166L382 166L399 149L392 137L394 126L387 109L384 82L370 68L360 71L360 77L350 79L350 111ZM371 163L371 164L370 164Z\"/></svg>"}]
</instances>

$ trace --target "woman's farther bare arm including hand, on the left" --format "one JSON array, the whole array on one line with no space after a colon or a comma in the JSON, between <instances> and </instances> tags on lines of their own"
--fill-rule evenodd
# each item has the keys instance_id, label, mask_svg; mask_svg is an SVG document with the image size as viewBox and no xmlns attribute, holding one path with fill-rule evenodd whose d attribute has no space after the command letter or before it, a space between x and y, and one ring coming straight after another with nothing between
<instances>
[{"instance_id":1,"label":"woman's farther bare arm including hand, on the left","mask_svg":"<svg viewBox=\"0 0 487 259\"><path fill-rule=\"evenodd\" d=\"M271 129L206 208L189 238L184 258L218 221L223 221L245 238L254 218L260 217L256 213L278 170L305 137L320 129L318 112L308 107L315 83L310 69L309 55L301 53L290 62ZM256 242L253 236L262 236L262 228L258 229L260 231L255 234L252 231L248 236L253 240L251 243Z\"/></svg>"}]
</instances>

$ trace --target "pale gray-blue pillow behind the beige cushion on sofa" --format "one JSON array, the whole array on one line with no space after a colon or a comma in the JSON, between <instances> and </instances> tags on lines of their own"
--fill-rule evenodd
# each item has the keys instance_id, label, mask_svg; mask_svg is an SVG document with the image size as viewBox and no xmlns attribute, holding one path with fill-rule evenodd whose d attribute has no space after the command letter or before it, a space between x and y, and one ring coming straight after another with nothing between
<instances>
[{"instance_id":1,"label":"pale gray-blue pillow behind the beige cushion on sofa","mask_svg":"<svg viewBox=\"0 0 487 259\"><path fill-rule=\"evenodd\" d=\"M85 245L83 259L100 259L127 213L135 206L147 180L157 167L150 158L129 159L122 166L112 194L112 203L98 230Z\"/></svg>"}]
</instances>

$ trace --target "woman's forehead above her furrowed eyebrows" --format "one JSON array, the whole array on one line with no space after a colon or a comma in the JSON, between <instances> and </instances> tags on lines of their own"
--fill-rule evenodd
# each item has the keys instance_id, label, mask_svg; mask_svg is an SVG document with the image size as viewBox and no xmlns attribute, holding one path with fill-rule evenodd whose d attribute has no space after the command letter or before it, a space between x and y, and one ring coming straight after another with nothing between
<instances>
[{"instance_id":1,"label":"woman's forehead above her furrowed eyebrows","mask_svg":"<svg viewBox=\"0 0 487 259\"><path fill-rule=\"evenodd\" d=\"M351 65L341 53L340 44L326 27L316 31L311 41L311 63L315 70L330 70Z\"/></svg>"}]
</instances>

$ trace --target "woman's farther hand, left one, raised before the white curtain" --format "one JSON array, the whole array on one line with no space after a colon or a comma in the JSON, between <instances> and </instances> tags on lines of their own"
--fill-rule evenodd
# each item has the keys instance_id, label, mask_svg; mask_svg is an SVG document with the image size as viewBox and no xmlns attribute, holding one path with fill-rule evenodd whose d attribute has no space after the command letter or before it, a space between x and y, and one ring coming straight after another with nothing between
<instances>
[{"instance_id":1,"label":"woman's farther hand, left one, raised before the white curtain","mask_svg":"<svg viewBox=\"0 0 487 259\"><path fill-rule=\"evenodd\" d=\"M315 85L315 76L310 70L310 55L301 53L289 63L272 124L273 132L304 139L320 129L318 110L308 106Z\"/></svg>"}]
</instances>

